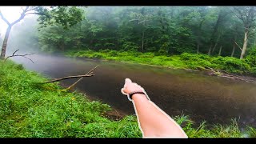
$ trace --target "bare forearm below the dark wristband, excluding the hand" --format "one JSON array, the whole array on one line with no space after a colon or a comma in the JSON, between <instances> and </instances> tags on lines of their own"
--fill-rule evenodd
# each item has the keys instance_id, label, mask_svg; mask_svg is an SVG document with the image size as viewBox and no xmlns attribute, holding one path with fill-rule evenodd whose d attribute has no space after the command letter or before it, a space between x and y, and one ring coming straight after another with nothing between
<instances>
[{"instance_id":1,"label":"bare forearm below the dark wristband, excluding the hand","mask_svg":"<svg viewBox=\"0 0 256 144\"><path fill-rule=\"evenodd\" d=\"M134 94L133 100L145 137L187 138L180 126L144 94Z\"/></svg>"}]
</instances>

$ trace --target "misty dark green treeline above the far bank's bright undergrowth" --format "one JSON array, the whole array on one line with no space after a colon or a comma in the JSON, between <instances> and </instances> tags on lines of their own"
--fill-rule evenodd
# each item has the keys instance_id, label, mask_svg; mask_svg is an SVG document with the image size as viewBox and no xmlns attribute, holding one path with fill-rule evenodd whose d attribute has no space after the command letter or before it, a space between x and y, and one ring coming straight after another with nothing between
<instances>
[{"instance_id":1,"label":"misty dark green treeline above the far bank's bright undergrowth","mask_svg":"<svg viewBox=\"0 0 256 144\"><path fill-rule=\"evenodd\" d=\"M255 46L254 6L89 6L70 29L47 26L42 50L135 50L243 58Z\"/></svg>"}]
</instances>

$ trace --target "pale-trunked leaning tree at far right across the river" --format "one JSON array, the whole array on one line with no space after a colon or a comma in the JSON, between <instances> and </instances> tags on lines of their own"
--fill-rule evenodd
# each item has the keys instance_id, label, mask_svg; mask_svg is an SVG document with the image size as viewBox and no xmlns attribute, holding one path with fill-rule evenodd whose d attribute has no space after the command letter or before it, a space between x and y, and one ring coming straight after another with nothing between
<instances>
[{"instance_id":1,"label":"pale-trunked leaning tree at far right across the river","mask_svg":"<svg viewBox=\"0 0 256 144\"><path fill-rule=\"evenodd\" d=\"M244 26L244 40L240 59L244 57L247 49L247 42L250 35L254 34L255 20L256 20L256 7L255 6L242 6L234 7L234 14L242 21Z\"/></svg>"}]
</instances>

